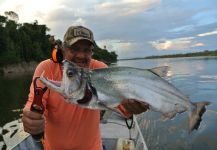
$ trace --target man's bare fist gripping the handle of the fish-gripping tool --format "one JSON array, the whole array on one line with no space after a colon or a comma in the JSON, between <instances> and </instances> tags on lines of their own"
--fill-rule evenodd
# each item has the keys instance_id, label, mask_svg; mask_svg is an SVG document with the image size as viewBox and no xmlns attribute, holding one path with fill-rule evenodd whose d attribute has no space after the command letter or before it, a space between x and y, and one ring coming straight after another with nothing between
<instances>
[{"instance_id":1,"label":"man's bare fist gripping the handle of the fish-gripping tool","mask_svg":"<svg viewBox=\"0 0 217 150\"><path fill-rule=\"evenodd\" d=\"M25 132L36 135L44 131L45 119L43 114L30 111L29 108L25 107L23 109L22 121Z\"/></svg>"}]
</instances>

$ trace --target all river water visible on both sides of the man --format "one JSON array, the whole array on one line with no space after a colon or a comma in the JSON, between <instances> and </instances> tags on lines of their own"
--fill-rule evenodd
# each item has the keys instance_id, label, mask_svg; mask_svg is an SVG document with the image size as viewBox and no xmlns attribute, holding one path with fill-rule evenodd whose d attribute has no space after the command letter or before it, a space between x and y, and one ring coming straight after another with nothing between
<instances>
[{"instance_id":1,"label":"all river water visible on both sides of the man","mask_svg":"<svg viewBox=\"0 0 217 150\"><path fill-rule=\"evenodd\" d=\"M188 133L188 115L161 121L159 113L146 112L139 117L144 138L153 150L216 150L217 149L217 58L169 58L118 61L117 66L152 68L170 66L170 83L191 101L210 101L197 131ZM32 75L0 77L0 127L20 118L27 99Z\"/></svg>"}]
</instances>

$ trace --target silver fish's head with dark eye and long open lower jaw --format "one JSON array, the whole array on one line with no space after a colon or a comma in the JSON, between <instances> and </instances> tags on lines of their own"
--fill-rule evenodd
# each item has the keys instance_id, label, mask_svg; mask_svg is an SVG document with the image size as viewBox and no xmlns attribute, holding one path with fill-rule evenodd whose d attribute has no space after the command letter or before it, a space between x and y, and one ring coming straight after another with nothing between
<instances>
[{"instance_id":1,"label":"silver fish's head with dark eye and long open lower jaw","mask_svg":"<svg viewBox=\"0 0 217 150\"><path fill-rule=\"evenodd\" d=\"M62 61L62 69L63 76L59 84L56 84L58 81L49 80L43 75L41 75L40 80L48 88L63 95L67 102L77 104L77 100L85 96L88 69L81 68L68 60Z\"/></svg>"}]
</instances>

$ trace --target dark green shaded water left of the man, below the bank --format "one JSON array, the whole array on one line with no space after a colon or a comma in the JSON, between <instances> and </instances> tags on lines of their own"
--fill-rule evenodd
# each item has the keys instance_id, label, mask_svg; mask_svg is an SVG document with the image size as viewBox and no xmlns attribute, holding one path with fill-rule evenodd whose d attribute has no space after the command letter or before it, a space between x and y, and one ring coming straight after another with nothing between
<instances>
[{"instance_id":1,"label":"dark green shaded water left of the man, below the bank","mask_svg":"<svg viewBox=\"0 0 217 150\"><path fill-rule=\"evenodd\" d=\"M32 75L0 76L0 127L20 117Z\"/></svg>"}]
</instances>

